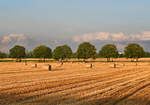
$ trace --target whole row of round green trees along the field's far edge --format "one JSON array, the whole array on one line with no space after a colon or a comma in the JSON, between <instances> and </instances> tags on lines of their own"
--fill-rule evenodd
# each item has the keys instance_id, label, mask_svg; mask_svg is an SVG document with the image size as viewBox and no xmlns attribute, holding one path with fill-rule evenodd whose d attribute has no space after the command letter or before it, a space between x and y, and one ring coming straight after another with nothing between
<instances>
[{"instance_id":1,"label":"whole row of round green trees along the field's far edge","mask_svg":"<svg viewBox=\"0 0 150 105\"><path fill-rule=\"evenodd\" d=\"M114 44L104 45L99 53L96 53L96 48L89 42L83 42L78 46L76 53L73 53L68 45L58 46L52 52L51 48L41 45L36 47L32 52L26 53L26 49L23 46L16 45L9 50L9 57L18 58L54 58L56 60L64 60L66 58L78 58L78 59L88 59L96 57L107 58L107 61L111 61L111 58L117 58L124 56L126 58L132 58L138 61L138 58L149 56L149 53L144 52L144 49L137 43L128 44L123 54L119 54L117 47ZM0 52L0 57L6 57L6 54Z\"/></svg>"}]
</instances>

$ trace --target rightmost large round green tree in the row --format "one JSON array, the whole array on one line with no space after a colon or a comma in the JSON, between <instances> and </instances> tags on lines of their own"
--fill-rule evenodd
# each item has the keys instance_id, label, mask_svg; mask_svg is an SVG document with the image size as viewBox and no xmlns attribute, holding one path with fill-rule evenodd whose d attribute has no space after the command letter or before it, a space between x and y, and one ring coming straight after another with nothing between
<instances>
[{"instance_id":1,"label":"rightmost large round green tree in the row","mask_svg":"<svg viewBox=\"0 0 150 105\"><path fill-rule=\"evenodd\" d=\"M131 59L136 59L143 57L145 54L144 49L137 43L130 43L125 47L124 56Z\"/></svg>"}]
</instances>

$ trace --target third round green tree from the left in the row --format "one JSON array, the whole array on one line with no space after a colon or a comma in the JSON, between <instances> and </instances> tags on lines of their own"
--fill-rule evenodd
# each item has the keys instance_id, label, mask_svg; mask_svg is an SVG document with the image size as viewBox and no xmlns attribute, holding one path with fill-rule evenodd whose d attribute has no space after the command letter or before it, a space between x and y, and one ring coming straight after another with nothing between
<instances>
[{"instance_id":1,"label":"third round green tree from the left in the row","mask_svg":"<svg viewBox=\"0 0 150 105\"><path fill-rule=\"evenodd\" d=\"M53 51L53 58L56 60L64 60L72 57L72 50L68 45L57 46Z\"/></svg>"}]
</instances>

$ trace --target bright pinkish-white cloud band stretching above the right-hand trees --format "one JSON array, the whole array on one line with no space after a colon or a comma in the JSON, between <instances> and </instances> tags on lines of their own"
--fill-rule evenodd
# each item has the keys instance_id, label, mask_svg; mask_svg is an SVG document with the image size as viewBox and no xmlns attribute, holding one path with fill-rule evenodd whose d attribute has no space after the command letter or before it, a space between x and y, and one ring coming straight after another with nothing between
<instances>
[{"instance_id":1,"label":"bright pinkish-white cloud band stretching above the right-hand trees","mask_svg":"<svg viewBox=\"0 0 150 105\"><path fill-rule=\"evenodd\" d=\"M124 41L148 41L150 40L150 32L142 32L139 34L125 34L120 33L109 33L109 32L97 32L87 33L80 36L75 36L72 39L74 42L84 41L113 41L113 42L124 42Z\"/></svg>"}]
</instances>

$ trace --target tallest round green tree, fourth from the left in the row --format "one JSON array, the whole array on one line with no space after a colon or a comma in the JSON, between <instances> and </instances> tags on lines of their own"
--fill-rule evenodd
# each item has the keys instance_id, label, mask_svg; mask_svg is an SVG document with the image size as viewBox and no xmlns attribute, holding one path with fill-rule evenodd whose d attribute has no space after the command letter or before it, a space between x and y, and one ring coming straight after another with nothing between
<instances>
[{"instance_id":1,"label":"tallest round green tree, fourth from the left in the row","mask_svg":"<svg viewBox=\"0 0 150 105\"><path fill-rule=\"evenodd\" d=\"M96 48L89 42L83 42L78 46L76 56L78 59L96 58Z\"/></svg>"}]
</instances>

